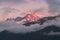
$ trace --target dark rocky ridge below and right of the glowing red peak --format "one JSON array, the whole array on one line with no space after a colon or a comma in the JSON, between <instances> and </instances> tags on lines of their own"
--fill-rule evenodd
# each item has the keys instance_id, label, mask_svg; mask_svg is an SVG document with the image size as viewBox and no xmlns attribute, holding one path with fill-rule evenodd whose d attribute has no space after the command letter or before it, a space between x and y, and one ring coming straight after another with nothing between
<instances>
[{"instance_id":1,"label":"dark rocky ridge below and right of the glowing red peak","mask_svg":"<svg viewBox=\"0 0 60 40\"><path fill-rule=\"evenodd\" d=\"M26 25L26 26L29 26L29 25L32 25L32 24L40 24L40 25L43 25L45 22L47 22L49 20L55 20L56 18L60 18L60 15L49 16L49 17L42 17L42 18L37 19L37 21L34 21L34 22L27 21L24 25Z\"/></svg>"}]
</instances>

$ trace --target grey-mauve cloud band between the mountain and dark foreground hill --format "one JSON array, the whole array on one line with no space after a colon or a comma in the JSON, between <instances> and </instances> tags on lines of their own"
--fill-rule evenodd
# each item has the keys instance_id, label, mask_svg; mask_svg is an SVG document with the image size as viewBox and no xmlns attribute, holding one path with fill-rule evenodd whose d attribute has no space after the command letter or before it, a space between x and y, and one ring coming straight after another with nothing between
<instances>
[{"instance_id":1,"label":"grey-mauve cloud band between the mountain and dark foreground hill","mask_svg":"<svg viewBox=\"0 0 60 40\"><path fill-rule=\"evenodd\" d=\"M15 22L0 22L0 32L7 30L12 33L29 33L42 30L47 26L55 25L60 27L60 17L54 20L46 21L43 25L33 24L31 26L25 26L22 24L17 24Z\"/></svg>"}]
</instances>

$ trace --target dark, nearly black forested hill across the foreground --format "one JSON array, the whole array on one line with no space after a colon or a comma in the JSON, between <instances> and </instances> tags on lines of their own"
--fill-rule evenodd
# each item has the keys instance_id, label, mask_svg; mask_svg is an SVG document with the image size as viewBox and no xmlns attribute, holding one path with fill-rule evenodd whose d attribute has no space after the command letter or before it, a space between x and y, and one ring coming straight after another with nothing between
<instances>
[{"instance_id":1,"label":"dark, nearly black forested hill across the foreground","mask_svg":"<svg viewBox=\"0 0 60 40\"><path fill-rule=\"evenodd\" d=\"M48 26L42 30L27 34L14 34L8 31L0 32L0 40L60 40L60 35L45 35L50 31L60 32L60 28L56 26Z\"/></svg>"}]
</instances>

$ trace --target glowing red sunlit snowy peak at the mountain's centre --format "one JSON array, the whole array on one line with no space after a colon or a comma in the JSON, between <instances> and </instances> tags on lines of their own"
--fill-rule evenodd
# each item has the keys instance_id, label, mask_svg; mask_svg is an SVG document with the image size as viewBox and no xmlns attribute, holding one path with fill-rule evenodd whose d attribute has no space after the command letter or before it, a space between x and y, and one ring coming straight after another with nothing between
<instances>
[{"instance_id":1,"label":"glowing red sunlit snowy peak at the mountain's centre","mask_svg":"<svg viewBox=\"0 0 60 40\"><path fill-rule=\"evenodd\" d=\"M39 15L39 14L36 14L36 13L35 14L34 13L31 13L31 14L27 14L25 16L25 19L28 22L35 22L35 21L41 19L42 17L43 17L42 15Z\"/></svg>"}]
</instances>

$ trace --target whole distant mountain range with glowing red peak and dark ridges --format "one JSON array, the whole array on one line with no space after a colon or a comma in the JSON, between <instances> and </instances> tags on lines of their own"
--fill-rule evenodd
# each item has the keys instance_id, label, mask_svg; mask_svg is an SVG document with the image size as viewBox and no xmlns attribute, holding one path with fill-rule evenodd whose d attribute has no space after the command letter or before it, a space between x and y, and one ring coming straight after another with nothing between
<instances>
[{"instance_id":1,"label":"whole distant mountain range with glowing red peak and dark ridges","mask_svg":"<svg viewBox=\"0 0 60 40\"><path fill-rule=\"evenodd\" d=\"M60 17L60 15L43 17L42 15L32 13L32 14L27 14L25 17L16 17L12 19L8 18L6 21L21 22L23 20L24 22L23 25L30 26L32 24L43 25L45 22L49 20L54 20L58 17Z\"/></svg>"}]
</instances>

